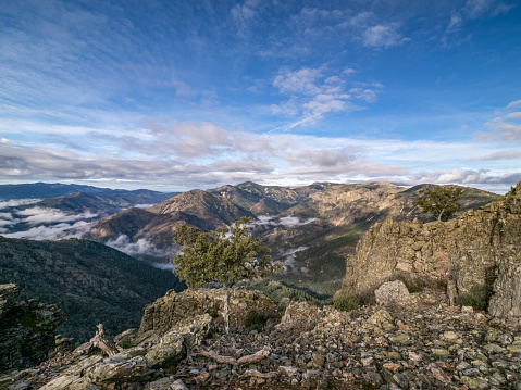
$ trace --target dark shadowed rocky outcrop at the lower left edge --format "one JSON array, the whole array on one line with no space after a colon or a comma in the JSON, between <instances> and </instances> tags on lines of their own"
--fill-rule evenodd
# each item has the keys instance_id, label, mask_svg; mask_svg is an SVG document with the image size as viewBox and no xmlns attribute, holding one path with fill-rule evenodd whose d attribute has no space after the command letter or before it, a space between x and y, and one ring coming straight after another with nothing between
<instances>
[{"instance_id":1,"label":"dark shadowed rocky outcrop at the lower left edge","mask_svg":"<svg viewBox=\"0 0 521 390\"><path fill-rule=\"evenodd\" d=\"M47 360L57 327L66 319L58 305L18 302L18 294L16 285L0 285L0 373Z\"/></svg>"}]
</instances>

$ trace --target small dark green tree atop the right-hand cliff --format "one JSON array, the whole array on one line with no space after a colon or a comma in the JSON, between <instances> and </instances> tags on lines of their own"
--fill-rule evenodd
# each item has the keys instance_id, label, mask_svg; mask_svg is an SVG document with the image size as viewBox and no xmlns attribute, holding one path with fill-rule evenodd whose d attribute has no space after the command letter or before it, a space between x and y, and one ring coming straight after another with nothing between
<instances>
[{"instance_id":1,"label":"small dark green tree atop the right-hand cliff","mask_svg":"<svg viewBox=\"0 0 521 390\"><path fill-rule=\"evenodd\" d=\"M458 201L463 198L463 190L456 186L426 187L420 190L417 205L424 213L431 213L437 221L448 221L461 210Z\"/></svg>"}]
</instances>

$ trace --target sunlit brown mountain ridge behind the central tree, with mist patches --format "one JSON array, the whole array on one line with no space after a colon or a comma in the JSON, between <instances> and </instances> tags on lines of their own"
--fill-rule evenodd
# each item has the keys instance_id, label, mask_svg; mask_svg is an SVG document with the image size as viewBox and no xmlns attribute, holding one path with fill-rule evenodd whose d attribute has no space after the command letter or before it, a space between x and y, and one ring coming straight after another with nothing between
<instances>
[{"instance_id":1,"label":"sunlit brown mountain ridge behind the central tree, with mist patches","mask_svg":"<svg viewBox=\"0 0 521 390\"><path fill-rule=\"evenodd\" d=\"M333 293L342 285L346 256L355 252L359 238L374 223L387 216L397 221L429 219L414 206L424 187L315 183L286 188L247 181L187 191L147 210L114 214L97 222L85 237L100 242L121 237L131 242L145 239L173 254L173 238L181 224L209 231L248 216L255 234L272 247L275 259L286 264L286 273L275 278L314 292ZM463 211L501 198L462 188Z\"/></svg>"}]
</instances>

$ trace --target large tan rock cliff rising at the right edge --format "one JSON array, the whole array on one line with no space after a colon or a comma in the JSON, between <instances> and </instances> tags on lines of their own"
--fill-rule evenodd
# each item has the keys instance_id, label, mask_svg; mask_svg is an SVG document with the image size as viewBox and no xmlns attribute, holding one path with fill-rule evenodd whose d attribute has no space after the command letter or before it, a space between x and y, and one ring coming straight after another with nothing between
<instances>
[{"instance_id":1,"label":"large tan rock cliff rising at the right edge","mask_svg":"<svg viewBox=\"0 0 521 390\"><path fill-rule=\"evenodd\" d=\"M505 295L519 277L519 262L509 259L520 253L521 183L505 200L446 223L387 218L375 224L348 259L343 293L372 291L395 274L409 274L448 280L452 299L495 286L491 312L520 316L519 300Z\"/></svg>"}]
</instances>

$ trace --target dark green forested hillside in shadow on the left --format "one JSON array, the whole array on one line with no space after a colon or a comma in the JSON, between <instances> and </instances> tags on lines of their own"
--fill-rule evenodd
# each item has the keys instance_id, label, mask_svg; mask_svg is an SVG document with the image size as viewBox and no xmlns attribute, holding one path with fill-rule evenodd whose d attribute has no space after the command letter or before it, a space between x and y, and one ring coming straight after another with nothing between
<instances>
[{"instance_id":1,"label":"dark green forested hillside in shadow on the left","mask_svg":"<svg viewBox=\"0 0 521 390\"><path fill-rule=\"evenodd\" d=\"M98 323L109 334L138 327L146 304L184 289L172 273L97 242L0 236L0 284L8 282L23 299L60 303L70 316L61 330L78 341L92 337Z\"/></svg>"}]
</instances>

